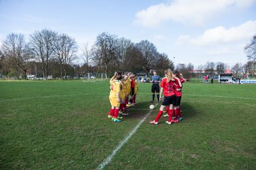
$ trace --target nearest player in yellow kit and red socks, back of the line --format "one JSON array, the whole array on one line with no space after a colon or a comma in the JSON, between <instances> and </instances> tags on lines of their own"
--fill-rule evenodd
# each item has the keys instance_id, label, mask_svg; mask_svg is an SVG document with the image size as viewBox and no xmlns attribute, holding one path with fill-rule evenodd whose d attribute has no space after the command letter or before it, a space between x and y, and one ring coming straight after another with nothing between
<instances>
[{"instance_id":1,"label":"nearest player in yellow kit and red socks, back of the line","mask_svg":"<svg viewBox=\"0 0 256 170\"><path fill-rule=\"evenodd\" d=\"M120 106L120 91L122 90L122 73L116 72L114 77L110 79L110 103L111 109L108 115L109 118L112 117L112 121L114 122L122 122L122 120L118 119L118 112ZM110 117L111 116L111 117Z\"/></svg>"}]
</instances>

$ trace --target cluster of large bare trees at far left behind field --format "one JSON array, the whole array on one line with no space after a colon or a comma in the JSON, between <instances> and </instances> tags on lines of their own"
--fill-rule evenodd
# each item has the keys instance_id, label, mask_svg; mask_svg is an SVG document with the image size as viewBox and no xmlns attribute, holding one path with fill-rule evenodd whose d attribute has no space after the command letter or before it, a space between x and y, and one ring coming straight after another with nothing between
<instances>
[{"instance_id":1,"label":"cluster of large bare trees at far left behind field","mask_svg":"<svg viewBox=\"0 0 256 170\"><path fill-rule=\"evenodd\" d=\"M26 79L28 69L35 65L41 69L43 79L47 79L50 64L54 67L55 63L60 68L60 77L67 77L68 66L77 58L77 51L75 39L52 30L35 31L28 42L24 35L11 33L1 47L1 72L6 75L22 72Z\"/></svg>"}]
</instances>

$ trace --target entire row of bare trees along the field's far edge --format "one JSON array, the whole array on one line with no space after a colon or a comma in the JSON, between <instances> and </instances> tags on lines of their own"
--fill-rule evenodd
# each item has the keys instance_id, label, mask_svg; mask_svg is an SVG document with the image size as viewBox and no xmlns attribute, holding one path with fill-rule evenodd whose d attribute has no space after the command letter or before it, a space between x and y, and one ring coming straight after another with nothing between
<instances>
[{"instance_id":1,"label":"entire row of bare trees along the field's far edge","mask_svg":"<svg viewBox=\"0 0 256 170\"><path fill-rule=\"evenodd\" d=\"M164 69L174 69L174 63L168 55L159 53L153 43L141 40L134 43L117 35L101 33L97 35L94 45L84 45L82 54L78 55L78 44L74 38L53 30L36 30L28 41L24 35L11 33L6 36L0 47L0 74L6 77L26 79L28 73L35 74L43 79L49 75L67 79L70 76L85 77L87 73L105 73L110 77L114 72L144 72L151 74L152 69L164 75ZM244 65L237 63L232 67L233 74L250 74L255 76L256 63L256 35L246 45L248 62ZM84 60L80 66L75 64L78 59ZM177 64L176 68L187 79L191 78L193 64ZM206 62L198 70L206 74L222 74L227 69L223 62Z\"/></svg>"}]
</instances>

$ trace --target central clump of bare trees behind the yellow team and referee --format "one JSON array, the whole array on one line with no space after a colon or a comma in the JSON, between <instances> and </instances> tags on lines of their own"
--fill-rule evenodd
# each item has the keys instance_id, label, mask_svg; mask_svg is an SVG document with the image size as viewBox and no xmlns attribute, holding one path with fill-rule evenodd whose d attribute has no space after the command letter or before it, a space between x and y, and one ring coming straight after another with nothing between
<instances>
[{"instance_id":1,"label":"central clump of bare trees behind the yellow team and referee","mask_svg":"<svg viewBox=\"0 0 256 170\"><path fill-rule=\"evenodd\" d=\"M142 40L134 43L126 38L117 38L116 35L102 33L97 36L95 45L90 49L85 46L82 50L85 61L92 61L93 65L102 68L105 76L117 69L122 72L144 72L149 74L151 69L158 69L161 74L162 68L174 68L174 63L168 55L157 51L153 43Z\"/></svg>"}]
</instances>

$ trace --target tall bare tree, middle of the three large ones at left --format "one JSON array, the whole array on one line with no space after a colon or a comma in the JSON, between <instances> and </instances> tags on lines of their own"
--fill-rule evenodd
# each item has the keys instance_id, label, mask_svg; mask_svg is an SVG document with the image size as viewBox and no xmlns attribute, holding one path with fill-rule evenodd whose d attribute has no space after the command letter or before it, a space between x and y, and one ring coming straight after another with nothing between
<instances>
[{"instance_id":1,"label":"tall bare tree, middle of the three large ones at left","mask_svg":"<svg viewBox=\"0 0 256 170\"><path fill-rule=\"evenodd\" d=\"M35 31L30 35L29 47L36 62L41 63L43 71L43 79L47 79L49 72L49 63L53 60L53 42L55 41L57 33L52 30L43 29Z\"/></svg>"}]
</instances>

